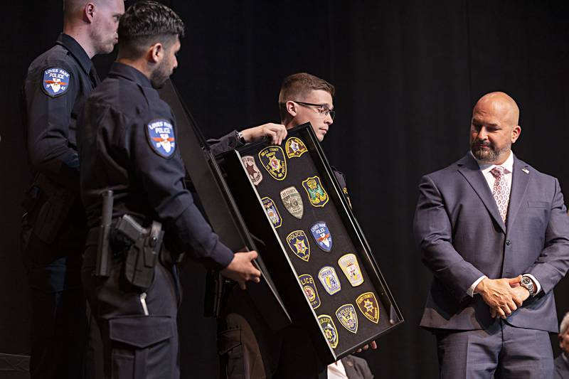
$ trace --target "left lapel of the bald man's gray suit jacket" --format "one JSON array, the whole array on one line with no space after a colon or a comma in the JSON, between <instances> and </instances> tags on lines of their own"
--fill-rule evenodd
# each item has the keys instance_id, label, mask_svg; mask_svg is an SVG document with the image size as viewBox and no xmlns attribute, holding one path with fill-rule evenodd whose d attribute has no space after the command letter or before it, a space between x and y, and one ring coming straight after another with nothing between
<instances>
[{"instance_id":1,"label":"left lapel of the bald man's gray suit jacket","mask_svg":"<svg viewBox=\"0 0 569 379\"><path fill-rule=\"evenodd\" d=\"M498 205L496 205L496 201L494 200L494 196L492 196L488 182L486 181L486 178L484 178L482 171L480 171L477 161L475 161L472 155L468 153L460 161L458 161L457 164L459 165L459 173L462 174L470 186L472 186L474 192L477 193L478 197L480 200L482 200L482 203L484 203L484 206L492 218L494 218L496 223L500 226L502 232L505 234L506 225L504 225L504 221L502 221L500 212L498 210Z\"/></svg>"}]
</instances>

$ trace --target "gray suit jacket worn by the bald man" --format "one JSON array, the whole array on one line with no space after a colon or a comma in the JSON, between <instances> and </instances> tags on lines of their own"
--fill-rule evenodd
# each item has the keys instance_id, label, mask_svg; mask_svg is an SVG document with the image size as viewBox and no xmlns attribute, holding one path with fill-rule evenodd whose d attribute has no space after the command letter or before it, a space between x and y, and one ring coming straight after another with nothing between
<instances>
[{"instance_id":1,"label":"gray suit jacket worn by the bald man","mask_svg":"<svg viewBox=\"0 0 569 379\"><path fill-rule=\"evenodd\" d=\"M533 274L541 292L508 317L513 326L558 331L553 287L569 268L569 217L556 178L514 156L506 225L477 161L467 154L422 177L415 240L434 279L420 325L486 329L496 322L467 289L491 279Z\"/></svg>"}]
</instances>

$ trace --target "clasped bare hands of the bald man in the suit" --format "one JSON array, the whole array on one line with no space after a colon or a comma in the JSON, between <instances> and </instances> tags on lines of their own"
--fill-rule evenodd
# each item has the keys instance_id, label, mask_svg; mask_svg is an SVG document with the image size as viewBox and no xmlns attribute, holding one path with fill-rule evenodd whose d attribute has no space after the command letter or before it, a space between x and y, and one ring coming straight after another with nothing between
<instances>
[{"instance_id":1,"label":"clasped bare hands of the bald man in the suit","mask_svg":"<svg viewBox=\"0 0 569 379\"><path fill-rule=\"evenodd\" d=\"M476 292L490 307L492 318L506 319L529 297L528 289L522 287L520 282L521 275L502 279L484 278L479 282Z\"/></svg>"}]
</instances>

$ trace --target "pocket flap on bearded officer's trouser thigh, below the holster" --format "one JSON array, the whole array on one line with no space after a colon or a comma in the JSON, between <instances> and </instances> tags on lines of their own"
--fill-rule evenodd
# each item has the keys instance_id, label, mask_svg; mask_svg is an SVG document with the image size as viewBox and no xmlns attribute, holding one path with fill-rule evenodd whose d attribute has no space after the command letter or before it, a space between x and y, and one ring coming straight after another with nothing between
<instances>
[{"instance_id":1,"label":"pocket flap on bearded officer's trouser thigh, below the holster","mask_svg":"<svg viewBox=\"0 0 569 379\"><path fill-rule=\"evenodd\" d=\"M124 316L109 320L110 339L137 348L170 338L173 328L169 316Z\"/></svg>"}]
</instances>

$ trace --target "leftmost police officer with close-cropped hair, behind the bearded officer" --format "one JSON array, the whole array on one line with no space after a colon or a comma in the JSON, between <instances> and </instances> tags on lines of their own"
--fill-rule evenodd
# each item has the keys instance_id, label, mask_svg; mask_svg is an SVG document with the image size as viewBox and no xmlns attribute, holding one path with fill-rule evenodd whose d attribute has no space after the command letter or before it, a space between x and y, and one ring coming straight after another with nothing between
<instances>
[{"instance_id":1,"label":"leftmost police officer with close-cropped hair, behind the bearded officer","mask_svg":"<svg viewBox=\"0 0 569 379\"><path fill-rule=\"evenodd\" d=\"M98 84L93 55L117 42L122 0L65 1L63 33L33 60L22 91L33 183L26 192L22 252L31 287L32 378L80 378L85 298L80 289L85 212L79 197L75 134Z\"/></svg>"}]
</instances>

